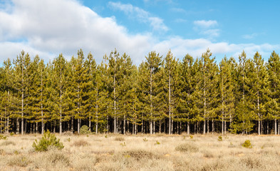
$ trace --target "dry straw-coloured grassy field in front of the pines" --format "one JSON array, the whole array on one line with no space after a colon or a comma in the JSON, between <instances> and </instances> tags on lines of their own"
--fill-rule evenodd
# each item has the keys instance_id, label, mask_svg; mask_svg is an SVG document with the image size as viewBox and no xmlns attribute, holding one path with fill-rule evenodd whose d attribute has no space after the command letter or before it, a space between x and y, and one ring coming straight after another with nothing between
<instances>
[{"instance_id":1,"label":"dry straw-coloured grassy field in front of the pines","mask_svg":"<svg viewBox=\"0 0 280 171\"><path fill-rule=\"evenodd\" d=\"M6 135L0 170L280 170L280 136L56 136L63 150L35 152L41 135Z\"/></svg>"}]
</instances>

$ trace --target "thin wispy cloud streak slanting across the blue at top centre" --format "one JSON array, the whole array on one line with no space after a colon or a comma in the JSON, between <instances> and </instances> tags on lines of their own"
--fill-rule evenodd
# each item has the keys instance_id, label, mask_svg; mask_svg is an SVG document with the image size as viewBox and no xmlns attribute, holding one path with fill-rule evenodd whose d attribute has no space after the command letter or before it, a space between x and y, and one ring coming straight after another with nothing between
<instances>
[{"instance_id":1,"label":"thin wispy cloud streak slanting across the blue at top centre","mask_svg":"<svg viewBox=\"0 0 280 171\"><path fill-rule=\"evenodd\" d=\"M152 28L156 31L167 31L168 28L165 26L162 19L152 16L149 12L140 9L137 6L133 6L131 4L121 4L120 2L112 2L110 1L109 6L113 9L118 9L120 11L125 12L126 15L130 17L135 17L138 21L143 23L148 23Z\"/></svg>"}]
</instances>

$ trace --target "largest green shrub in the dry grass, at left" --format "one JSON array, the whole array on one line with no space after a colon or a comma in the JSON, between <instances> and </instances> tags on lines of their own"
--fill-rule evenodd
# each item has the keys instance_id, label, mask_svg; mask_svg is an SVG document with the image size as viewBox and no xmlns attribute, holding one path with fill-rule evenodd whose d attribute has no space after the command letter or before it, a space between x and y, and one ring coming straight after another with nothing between
<instances>
[{"instance_id":1,"label":"largest green shrub in the dry grass, at left","mask_svg":"<svg viewBox=\"0 0 280 171\"><path fill-rule=\"evenodd\" d=\"M39 140L39 142L37 140L33 142L32 147L39 152L47 151L48 147L55 147L56 149L61 150L64 146L62 142L59 141L59 139L56 139L56 135L51 134L49 131L47 131L43 134L43 137L41 138L41 140Z\"/></svg>"}]
</instances>

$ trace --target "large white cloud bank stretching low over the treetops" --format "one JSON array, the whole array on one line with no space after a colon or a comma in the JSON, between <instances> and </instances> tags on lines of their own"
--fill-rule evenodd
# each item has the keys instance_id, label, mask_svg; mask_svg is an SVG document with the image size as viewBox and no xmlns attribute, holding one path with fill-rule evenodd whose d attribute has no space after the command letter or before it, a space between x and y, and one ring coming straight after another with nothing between
<instances>
[{"instance_id":1,"label":"large white cloud bank stretching low over the treetops","mask_svg":"<svg viewBox=\"0 0 280 171\"><path fill-rule=\"evenodd\" d=\"M91 51L95 59L101 61L105 53L117 48L139 64L149 51L165 56L171 49L174 56L183 58L186 53L201 56L210 48L214 56L237 57L243 49L248 56L253 56L256 51L269 56L271 51L280 48L279 45L233 44L178 36L158 41L152 33L129 34L127 28L116 23L115 18L98 16L78 1L15 0L13 3L8 11L0 8L0 62L16 58L23 49L31 56L38 54L48 61L59 53L70 58L82 48L85 55ZM145 12L142 15L145 16Z\"/></svg>"}]
</instances>

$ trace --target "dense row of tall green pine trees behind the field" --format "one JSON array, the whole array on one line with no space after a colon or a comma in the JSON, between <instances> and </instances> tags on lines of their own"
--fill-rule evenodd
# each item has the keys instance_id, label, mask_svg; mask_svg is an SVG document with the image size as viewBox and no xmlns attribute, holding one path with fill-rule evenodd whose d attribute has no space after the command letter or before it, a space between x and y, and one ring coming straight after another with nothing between
<instances>
[{"instance_id":1,"label":"dense row of tall green pine trees behind the field","mask_svg":"<svg viewBox=\"0 0 280 171\"><path fill-rule=\"evenodd\" d=\"M280 58L256 52L220 63L152 51L140 66L82 50L45 63L21 51L0 68L1 133L280 133Z\"/></svg>"}]
</instances>

